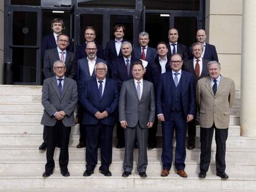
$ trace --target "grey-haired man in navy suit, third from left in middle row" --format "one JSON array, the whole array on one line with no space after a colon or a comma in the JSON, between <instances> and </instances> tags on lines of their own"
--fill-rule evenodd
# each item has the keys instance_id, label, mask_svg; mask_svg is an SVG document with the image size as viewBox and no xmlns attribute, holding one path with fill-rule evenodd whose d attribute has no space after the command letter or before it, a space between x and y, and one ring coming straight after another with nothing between
<instances>
[{"instance_id":1,"label":"grey-haired man in navy suit, third from left in middle row","mask_svg":"<svg viewBox=\"0 0 256 192\"><path fill-rule=\"evenodd\" d=\"M135 61L140 61L132 56L132 44L124 41L121 46L122 57L113 62L112 78L117 80L118 90L121 90L122 82L132 78L132 65ZM117 149L124 147L124 129L117 122Z\"/></svg>"}]
</instances>

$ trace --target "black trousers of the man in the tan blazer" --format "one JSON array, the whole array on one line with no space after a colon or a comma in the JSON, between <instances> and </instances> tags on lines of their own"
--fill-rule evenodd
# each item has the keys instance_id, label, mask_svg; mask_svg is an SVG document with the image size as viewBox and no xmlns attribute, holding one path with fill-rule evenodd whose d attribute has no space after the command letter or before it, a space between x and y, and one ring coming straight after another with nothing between
<instances>
[{"instance_id":1,"label":"black trousers of the man in the tan blazer","mask_svg":"<svg viewBox=\"0 0 256 192\"><path fill-rule=\"evenodd\" d=\"M223 173L226 169L225 154L226 154L226 140L228 138L228 128L218 129L213 126L211 128L200 128L200 171L207 172L211 161L211 142L213 140L213 131L215 130L216 142L216 171Z\"/></svg>"}]
</instances>

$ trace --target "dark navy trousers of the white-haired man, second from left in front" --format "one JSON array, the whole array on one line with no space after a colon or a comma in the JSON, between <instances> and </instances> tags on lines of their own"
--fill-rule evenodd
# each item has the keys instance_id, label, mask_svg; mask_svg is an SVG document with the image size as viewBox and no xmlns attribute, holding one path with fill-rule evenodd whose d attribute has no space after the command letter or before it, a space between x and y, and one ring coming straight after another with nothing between
<instances>
[{"instance_id":1,"label":"dark navy trousers of the white-haired man, second from left in front","mask_svg":"<svg viewBox=\"0 0 256 192\"><path fill-rule=\"evenodd\" d=\"M100 121L96 125L86 127L86 169L94 170L98 162L98 143L101 143L100 170L108 170L112 162L112 143L114 125L104 125ZM99 140L100 138L100 140Z\"/></svg>"}]
</instances>

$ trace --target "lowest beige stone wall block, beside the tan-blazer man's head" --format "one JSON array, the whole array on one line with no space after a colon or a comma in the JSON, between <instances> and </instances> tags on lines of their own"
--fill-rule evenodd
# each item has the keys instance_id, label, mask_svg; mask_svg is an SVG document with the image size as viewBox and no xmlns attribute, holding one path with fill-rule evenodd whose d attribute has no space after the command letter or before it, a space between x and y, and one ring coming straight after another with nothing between
<instances>
[{"instance_id":1,"label":"lowest beige stone wall block, beside the tan-blazer man's head","mask_svg":"<svg viewBox=\"0 0 256 192\"><path fill-rule=\"evenodd\" d=\"M218 51L218 49L217 49ZM234 80L236 90L241 89L241 54L218 54L221 74Z\"/></svg>"}]
</instances>

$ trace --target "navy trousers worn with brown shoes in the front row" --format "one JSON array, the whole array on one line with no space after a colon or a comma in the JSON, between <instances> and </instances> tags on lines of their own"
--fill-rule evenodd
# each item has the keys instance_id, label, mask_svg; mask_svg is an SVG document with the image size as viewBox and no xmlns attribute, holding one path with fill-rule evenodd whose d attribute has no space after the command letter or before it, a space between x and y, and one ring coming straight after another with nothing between
<instances>
[{"instance_id":1,"label":"navy trousers worn with brown shoes in the front row","mask_svg":"<svg viewBox=\"0 0 256 192\"><path fill-rule=\"evenodd\" d=\"M175 167L177 170L185 169L186 159L186 133L187 123L182 112L170 113L170 118L162 122L163 151L161 160L163 169L171 169L173 162L173 135L176 135Z\"/></svg>"}]
</instances>

